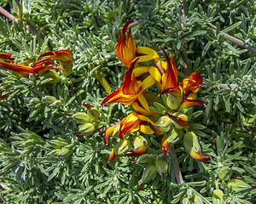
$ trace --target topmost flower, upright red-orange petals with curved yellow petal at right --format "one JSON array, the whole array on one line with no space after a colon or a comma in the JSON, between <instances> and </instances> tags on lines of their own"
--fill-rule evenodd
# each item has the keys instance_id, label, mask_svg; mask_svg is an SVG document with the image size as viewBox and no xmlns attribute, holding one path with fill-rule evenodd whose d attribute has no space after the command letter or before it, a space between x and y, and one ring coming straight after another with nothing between
<instances>
[{"instance_id":1,"label":"topmost flower, upright red-orange petals with curved yellow petal at right","mask_svg":"<svg viewBox=\"0 0 256 204\"><path fill-rule=\"evenodd\" d=\"M153 60L154 63L158 63L160 61L160 57L153 49L145 47L136 48L136 44L131 37L131 27L129 27L128 35L125 39L125 32L132 21L133 20L129 20L125 23L125 26L120 31L119 41L116 46L116 55L118 59L127 68L131 66L131 62L137 59L137 57L140 58L137 62Z\"/></svg>"}]
</instances>

